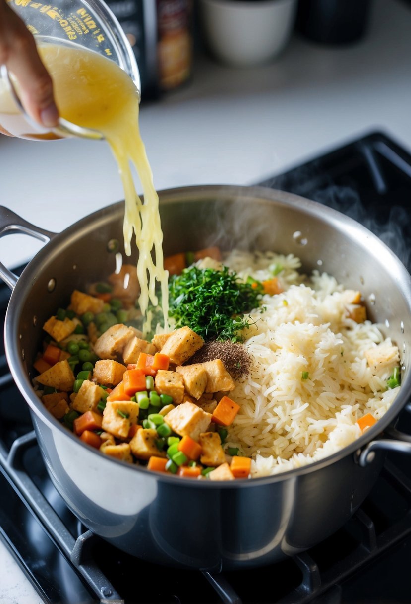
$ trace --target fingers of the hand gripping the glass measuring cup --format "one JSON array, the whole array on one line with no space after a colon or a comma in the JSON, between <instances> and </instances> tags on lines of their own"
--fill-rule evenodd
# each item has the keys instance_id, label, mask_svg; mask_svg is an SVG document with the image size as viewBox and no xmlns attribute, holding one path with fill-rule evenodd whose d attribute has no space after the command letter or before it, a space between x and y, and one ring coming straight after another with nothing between
<instances>
[{"instance_id":1,"label":"fingers of the hand gripping the glass measuring cup","mask_svg":"<svg viewBox=\"0 0 411 604\"><path fill-rule=\"evenodd\" d=\"M51 77L24 22L0 0L0 63L14 74L27 113L39 124L57 126Z\"/></svg>"}]
</instances>

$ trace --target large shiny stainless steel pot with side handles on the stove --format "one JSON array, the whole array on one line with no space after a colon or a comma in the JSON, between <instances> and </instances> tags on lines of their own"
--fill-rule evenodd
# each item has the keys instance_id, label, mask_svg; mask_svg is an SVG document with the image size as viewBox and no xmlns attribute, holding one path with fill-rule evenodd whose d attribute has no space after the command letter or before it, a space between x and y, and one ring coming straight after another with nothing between
<instances>
[{"instance_id":1,"label":"large shiny stainless steel pot with side handles on the stove","mask_svg":"<svg viewBox=\"0 0 411 604\"><path fill-rule=\"evenodd\" d=\"M0 269L13 289L5 322L11 372L30 406L51 480L93 532L134 556L176 567L218 571L276 562L327 538L353 515L378 477L385 449L411 449L407 435L381 438L411 392L411 278L363 226L281 191L186 187L160 192L160 211L165 254L212 244L292 252L304 270L327 271L362 291L369 316L401 351L401 390L385 416L325 460L234 483L149 472L83 445L45 410L31 385L31 367L44 321L68 303L74 288L114 269L113 249L122 251L122 202L60 234L0 208L0 236L20 232L48 241L21 277Z\"/></svg>"}]
</instances>

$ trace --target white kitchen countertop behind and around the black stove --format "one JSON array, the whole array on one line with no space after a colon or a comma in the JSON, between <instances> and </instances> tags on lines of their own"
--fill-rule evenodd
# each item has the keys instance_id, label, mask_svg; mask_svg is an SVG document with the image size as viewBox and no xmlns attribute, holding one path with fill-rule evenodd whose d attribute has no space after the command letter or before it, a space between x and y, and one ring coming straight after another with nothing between
<instances>
[{"instance_id":1,"label":"white kitchen countertop behind and around the black stove","mask_svg":"<svg viewBox=\"0 0 411 604\"><path fill-rule=\"evenodd\" d=\"M202 57L192 82L144 103L140 129L158 190L254 184L372 130L411 150L411 5L375 0L366 39L321 47L293 36L270 65L232 69ZM107 144L0 135L0 204L50 231L123 198ZM39 249L0 240L9 268ZM0 603L37 604L0 542Z\"/></svg>"}]
</instances>

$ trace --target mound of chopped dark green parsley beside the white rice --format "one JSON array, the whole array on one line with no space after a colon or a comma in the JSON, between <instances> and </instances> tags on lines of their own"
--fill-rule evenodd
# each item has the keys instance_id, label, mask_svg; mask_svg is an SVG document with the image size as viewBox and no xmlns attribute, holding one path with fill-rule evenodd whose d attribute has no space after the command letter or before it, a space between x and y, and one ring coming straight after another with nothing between
<instances>
[{"instance_id":1,"label":"mound of chopped dark green parsley beside the white rice","mask_svg":"<svg viewBox=\"0 0 411 604\"><path fill-rule=\"evenodd\" d=\"M169 280L169 315L176 327L188 326L205 341L239 341L237 332L249 327L244 313L257 308L262 297L253 283L244 283L227 266L221 271L190 266Z\"/></svg>"}]
</instances>

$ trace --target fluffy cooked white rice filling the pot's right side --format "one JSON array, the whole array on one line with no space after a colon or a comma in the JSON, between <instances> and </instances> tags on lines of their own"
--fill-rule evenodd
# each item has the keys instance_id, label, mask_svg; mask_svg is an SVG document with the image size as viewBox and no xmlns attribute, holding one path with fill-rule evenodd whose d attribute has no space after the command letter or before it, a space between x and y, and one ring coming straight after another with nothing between
<instances>
[{"instance_id":1,"label":"fluffy cooked white rice filling the pot's right side","mask_svg":"<svg viewBox=\"0 0 411 604\"><path fill-rule=\"evenodd\" d=\"M327 457L360 436L357 419L383 416L398 392L386 385L398 349L371 321L348 318L355 292L327 274L304 277L293 255L235 251L224 264L259 280L283 267L284 292L265 295L249 315L251 370L230 393L240 411L228 444L253 457L253 477ZM377 346L389 353L370 367L364 353Z\"/></svg>"}]
</instances>

